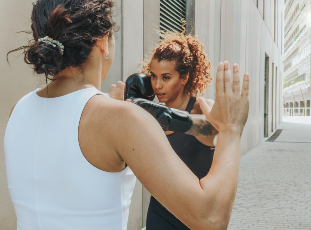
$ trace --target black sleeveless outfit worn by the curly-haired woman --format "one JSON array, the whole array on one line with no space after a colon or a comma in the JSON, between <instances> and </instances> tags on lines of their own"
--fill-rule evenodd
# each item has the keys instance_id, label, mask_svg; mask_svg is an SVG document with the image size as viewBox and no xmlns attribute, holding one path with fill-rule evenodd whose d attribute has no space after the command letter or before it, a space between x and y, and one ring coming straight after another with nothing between
<instances>
[{"instance_id":1,"label":"black sleeveless outfit worn by the curly-haired woman","mask_svg":"<svg viewBox=\"0 0 311 230\"><path fill-rule=\"evenodd\" d=\"M195 102L196 98L191 97L185 110L190 113ZM206 176L211 168L214 146L206 146L194 136L185 133L172 133L166 137L176 154L199 179ZM151 196L146 221L146 230L148 229L181 230L189 228Z\"/></svg>"}]
</instances>

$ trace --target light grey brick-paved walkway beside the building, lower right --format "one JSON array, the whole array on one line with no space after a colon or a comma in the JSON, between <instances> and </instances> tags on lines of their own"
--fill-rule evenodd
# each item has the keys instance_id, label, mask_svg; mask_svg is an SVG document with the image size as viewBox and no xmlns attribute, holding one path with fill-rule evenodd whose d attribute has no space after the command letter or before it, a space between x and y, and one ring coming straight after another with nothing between
<instances>
[{"instance_id":1,"label":"light grey brick-paved walkway beside the building, lower right","mask_svg":"<svg viewBox=\"0 0 311 230\"><path fill-rule=\"evenodd\" d=\"M286 117L278 129L241 157L229 230L311 230L311 117Z\"/></svg>"}]
</instances>

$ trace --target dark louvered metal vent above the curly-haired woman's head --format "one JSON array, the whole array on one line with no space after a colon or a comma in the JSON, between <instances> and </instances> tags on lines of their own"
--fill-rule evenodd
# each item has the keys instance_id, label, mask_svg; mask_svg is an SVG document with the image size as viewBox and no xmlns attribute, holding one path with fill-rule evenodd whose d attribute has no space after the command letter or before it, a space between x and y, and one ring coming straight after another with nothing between
<instances>
[{"instance_id":1,"label":"dark louvered metal vent above the curly-haired woman's head","mask_svg":"<svg viewBox=\"0 0 311 230\"><path fill-rule=\"evenodd\" d=\"M160 0L160 30L182 31L180 19L186 19L186 1Z\"/></svg>"}]
</instances>

